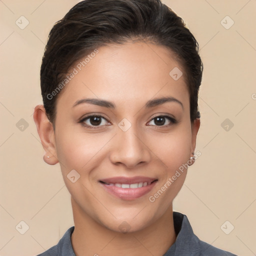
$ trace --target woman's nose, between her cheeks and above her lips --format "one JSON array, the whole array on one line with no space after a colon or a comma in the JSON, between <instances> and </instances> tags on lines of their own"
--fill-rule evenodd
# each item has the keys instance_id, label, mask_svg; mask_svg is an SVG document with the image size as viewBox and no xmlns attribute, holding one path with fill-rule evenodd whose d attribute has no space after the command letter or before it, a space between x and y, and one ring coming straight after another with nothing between
<instances>
[{"instance_id":1,"label":"woman's nose, between her cheeks and above her lips","mask_svg":"<svg viewBox=\"0 0 256 256\"><path fill-rule=\"evenodd\" d=\"M146 145L145 136L141 134L138 136L135 126L131 125L126 131L118 128L111 145L110 160L112 163L134 168L138 164L150 161L151 153Z\"/></svg>"}]
</instances>

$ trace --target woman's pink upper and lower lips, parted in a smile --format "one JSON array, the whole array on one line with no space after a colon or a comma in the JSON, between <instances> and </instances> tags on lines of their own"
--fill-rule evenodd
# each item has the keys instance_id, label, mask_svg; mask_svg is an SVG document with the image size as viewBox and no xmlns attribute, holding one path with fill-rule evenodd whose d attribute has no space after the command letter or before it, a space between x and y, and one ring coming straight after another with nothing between
<instances>
[{"instance_id":1,"label":"woman's pink upper and lower lips, parted in a smile","mask_svg":"<svg viewBox=\"0 0 256 256\"><path fill-rule=\"evenodd\" d=\"M103 183L104 182L104 183ZM134 184L139 182L147 182L148 185L138 188L122 188L106 183ZM136 176L136 177L111 177L99 180L99 184L103 186L105 191L123 200L134 200L147 194L157 182L156 178Z\"/></svg>"}]
</instances>

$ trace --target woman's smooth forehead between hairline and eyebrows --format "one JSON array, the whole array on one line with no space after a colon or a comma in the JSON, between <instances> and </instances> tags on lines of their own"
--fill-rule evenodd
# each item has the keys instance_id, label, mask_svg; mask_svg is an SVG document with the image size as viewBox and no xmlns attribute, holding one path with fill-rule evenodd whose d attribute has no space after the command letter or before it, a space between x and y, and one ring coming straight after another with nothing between
<instances>
[{"instance_id":1,"label":"woman's smooth forehead between hairline and eyebrows","mask_svg":"<svg viewBox=\"0 0 256 256\"><path fill-rule=\"evenodd\" d=\"M58 98L65 105L84 97L111 100L117 105L141 104L154 96L189 98L183 67L168 48L151 43L99 47L74 63L70 72L75 74Z\"/></svg>"}]
</instances>

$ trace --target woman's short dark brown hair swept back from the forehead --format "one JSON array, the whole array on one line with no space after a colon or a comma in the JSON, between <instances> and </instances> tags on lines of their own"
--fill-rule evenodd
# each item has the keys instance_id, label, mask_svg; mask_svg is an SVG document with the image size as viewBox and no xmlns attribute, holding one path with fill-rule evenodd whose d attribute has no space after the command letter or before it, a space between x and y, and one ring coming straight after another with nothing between
<instances>
[{"instance_id":1,"label":"woman's short dark brown hair swept back from the forehead","mask_svg":"<svg viewBox=\"0 0 256 256\"><path fill-rule=\"evenodd\" d=\"M190 119L198 118L203 64L198 43L182 18L160 0L84 0L54 24L42 57L41 94L53 125L58 92L65 85L61 81L77 60L100 46L142 40L166 46L175 54L185 70Z\"/></svg>"}]
</instances>

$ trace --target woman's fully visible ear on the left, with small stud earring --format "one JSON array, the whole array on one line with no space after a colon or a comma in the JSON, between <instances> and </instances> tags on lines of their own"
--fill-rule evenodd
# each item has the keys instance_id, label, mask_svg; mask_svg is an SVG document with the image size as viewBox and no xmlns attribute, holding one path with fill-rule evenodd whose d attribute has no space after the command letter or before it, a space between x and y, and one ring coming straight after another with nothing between
<instances>
[{"instance_id":1,"label":"woman's fully visible ear on the left, with small stud earring","mask_svg":"<svg viewBox=\"0 0 256 256\"><path fill-rule=\"evenodd\" d=\"M37 105L33 113L34 122L37 128L45 154L43 160L48 164L58 162L55 145L55 134L52 123L49 121L43 105Z\"/></svg>"}]
</instances>

